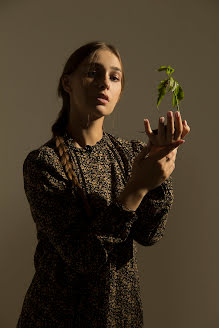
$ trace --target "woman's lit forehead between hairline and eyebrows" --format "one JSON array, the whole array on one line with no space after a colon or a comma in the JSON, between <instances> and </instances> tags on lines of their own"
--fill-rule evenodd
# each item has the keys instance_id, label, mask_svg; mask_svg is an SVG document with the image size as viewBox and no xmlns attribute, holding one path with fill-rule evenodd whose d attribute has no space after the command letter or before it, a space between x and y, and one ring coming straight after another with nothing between
<instances>
[{"instance_id":1,"label":"woman's lit forehead between hairline and eyebrows","mask_svg":"<svg viewBox=\"0 0 219 328\"><path fill-rule=\"evenodd\" d=\"M84 66L98 65L105 67L114 67L122 71L122 67L117 56L109 50L98 50L94 55L86 58Z\"/></svg>"}]
</instances>

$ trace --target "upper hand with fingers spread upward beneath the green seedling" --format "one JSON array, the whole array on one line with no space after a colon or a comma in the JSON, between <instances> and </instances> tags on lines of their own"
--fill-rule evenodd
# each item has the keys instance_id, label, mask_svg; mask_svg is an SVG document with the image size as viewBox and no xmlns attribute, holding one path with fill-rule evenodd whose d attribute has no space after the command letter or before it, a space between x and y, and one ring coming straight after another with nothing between
<instances>
[{"instance_id":1,"label":"upper hand with fingers spread upward beneath the green seedling","mask_svg":"<svg viewBox=\"0 0 219 328\"><path fill-rule=\"evenodd\" d=\"M177 140L183 139L190 132L190 127L187 125L186 120L182 122L179 111L175 112L175 127L174 127L174 119L173 119L172 111L169 111L167 113L166 126L164 125L164 122L163 123L160 122L160 119L158 122L157 134L153 133L149 120L144 121L145 132L149 138L149 142L152 145L163 146L163 145L174 143Z\"/></svg>"}]
</instances>

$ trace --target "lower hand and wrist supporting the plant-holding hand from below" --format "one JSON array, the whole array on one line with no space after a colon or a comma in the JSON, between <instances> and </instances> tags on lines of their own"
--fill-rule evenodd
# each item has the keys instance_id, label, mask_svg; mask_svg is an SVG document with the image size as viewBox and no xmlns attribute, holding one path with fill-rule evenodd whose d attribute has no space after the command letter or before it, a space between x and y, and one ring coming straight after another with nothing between
<instances>
[{"instance_id":1,"label":"lower hand and wrist supporting the plant-holding hand from below","mask_svg":"<svg viewBox=\"0 0 219 328\"><path fill-rule=\"evenodd\" d=\"M130 178L139 193L144 195L168 179L175 169L177 148L183 143L184 140L178 140L169 145L155 146L149 142L142 149L134 159Z\"/></svg>"}]
</instances>

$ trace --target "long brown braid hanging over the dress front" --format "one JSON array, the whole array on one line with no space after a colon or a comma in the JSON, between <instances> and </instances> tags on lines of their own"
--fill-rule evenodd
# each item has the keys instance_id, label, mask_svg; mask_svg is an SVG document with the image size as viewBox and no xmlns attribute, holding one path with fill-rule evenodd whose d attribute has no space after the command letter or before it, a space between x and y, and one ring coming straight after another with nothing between
<instances>
[{"instance_id":1,"label":"long brown braid hanging over the dress front","mask_svg":"<svg viewBox=\"0 0 219 328\"><path fill-rule=\"evenodd\" d=\"M87 196L84 193L84 191L78 181L78 178L73 170L73 168L75 169L75 166L74 166L74 163L71 163L71 161L69 160L68 149L65 146L64 139L63 139L63 137L58 136L58 135L55 136L55 139L56 139L56 149L59 154L60 161L65 169L66 175L70 180L72 180L72 186L78 187L79 194L84 201L86 213L88 216L91 216L92 211L91 211L90 205L88 203Z\"/></svg>"}]
</instances>

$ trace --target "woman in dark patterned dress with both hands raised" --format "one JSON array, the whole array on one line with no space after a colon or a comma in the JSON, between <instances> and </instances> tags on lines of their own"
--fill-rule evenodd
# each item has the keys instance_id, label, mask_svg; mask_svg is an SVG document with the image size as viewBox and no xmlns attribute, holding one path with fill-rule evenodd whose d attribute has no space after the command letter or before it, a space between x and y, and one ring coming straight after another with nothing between
<instances>
[{"instance_id":1,"label":"woman in dark patterned dress with both hands raised","mask_svg":"<svg viewBox=\"0 0 219 328\"><path fill-rule=\"evenodd\" d=\"M17 328L143 327L136 242L163 236L171 173L190 128L172 112L149 144L103 130L124 88L118 50L91 42L68 59L52 138L23 165L36 223L36 272Z\"/></svg>"}]
</instances>

